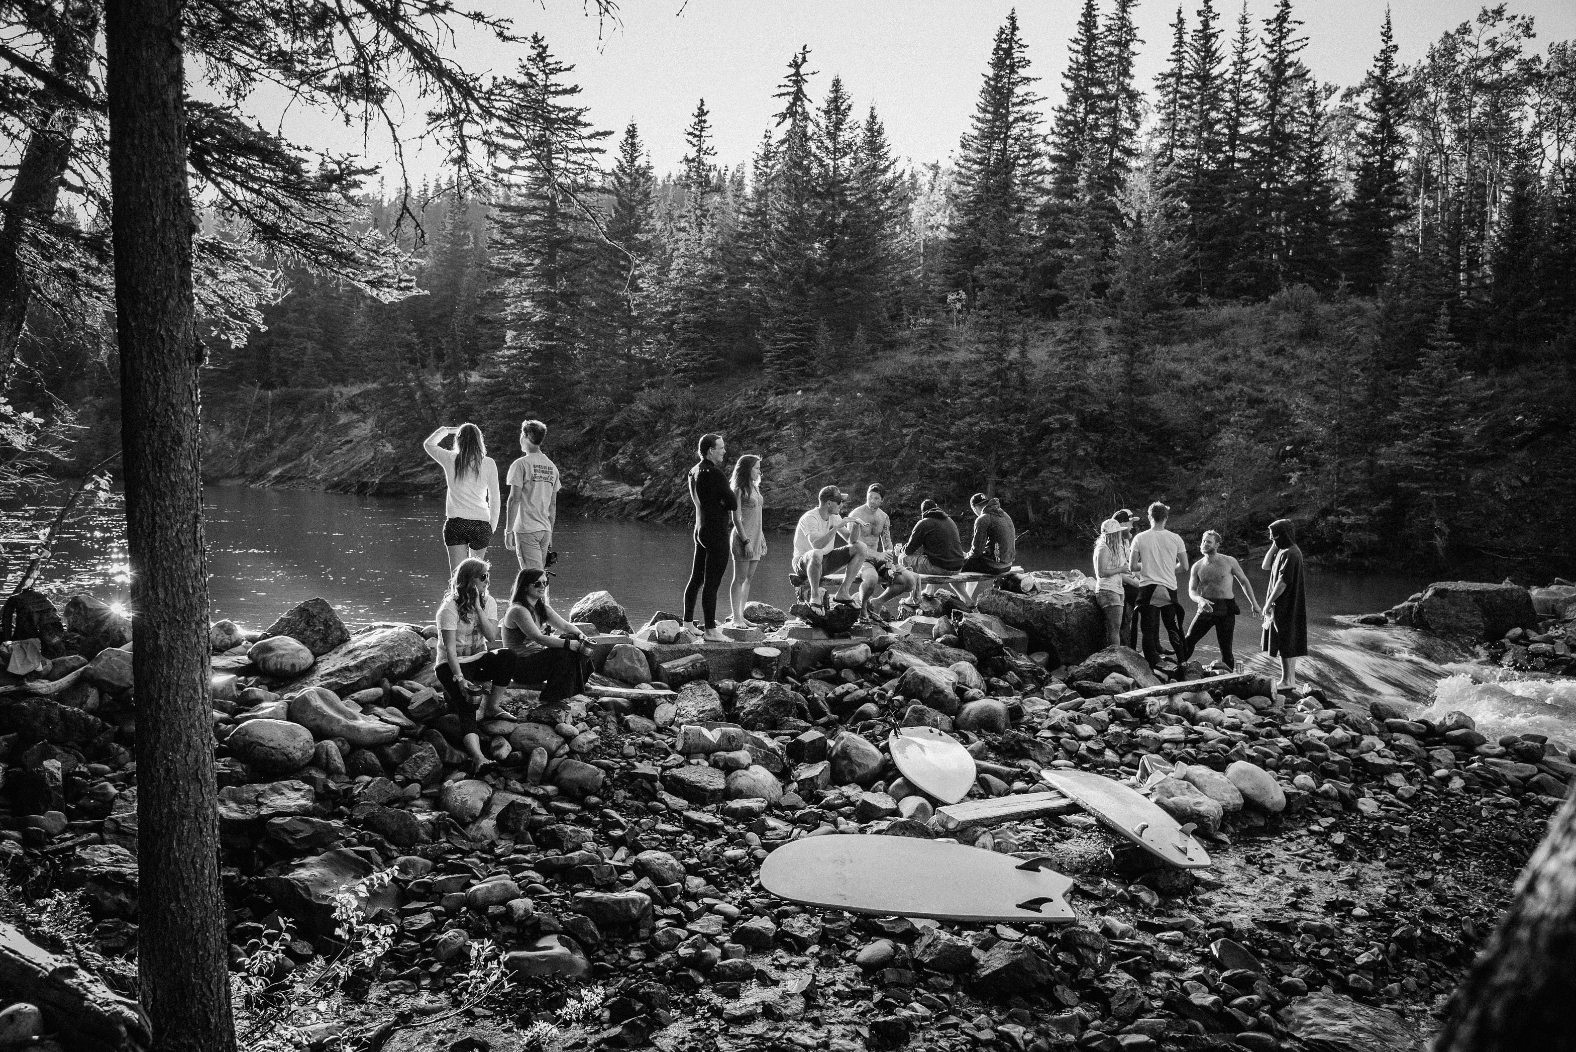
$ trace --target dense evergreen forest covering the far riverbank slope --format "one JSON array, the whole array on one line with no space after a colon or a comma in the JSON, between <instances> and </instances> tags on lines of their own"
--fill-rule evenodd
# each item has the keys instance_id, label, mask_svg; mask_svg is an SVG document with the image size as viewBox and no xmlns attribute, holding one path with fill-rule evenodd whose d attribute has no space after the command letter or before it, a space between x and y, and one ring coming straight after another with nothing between
<instances>
[{"instance_id":1,"label":"dense evergreen forest covering the far riverbank slope","mask_svg":"<svg viewBox=\"0 0 1576 1052\"><path fill-rule=\"evenodd\" d=\"M249 263L276 284L210 325L206 470L432 489L435 424L474 420L506 462L537 416L583 509L673 517L719 429L790 520L821 481L883 479L900 517L982 489L1046 541L1158 497L1237 538L1292 514L1332 560L1551 565L1576 43L1497 5L1407 65L1376 13L1366 76L1335 85L1291 0L1177 8L1162 41L1135 8L1084 0L1054 84L1062 43L987 27L955 153L914 161L813 47L753 155L720 158L704 99L682 129L607 128L533 36L485 178L356 191L345 221L397 278ZM1141 47L1166 49L1154 84ZM654 170L675 134L682 166ZM13 399L110 448L113 355L35 303Z\"/></svg>"}]
</instances>

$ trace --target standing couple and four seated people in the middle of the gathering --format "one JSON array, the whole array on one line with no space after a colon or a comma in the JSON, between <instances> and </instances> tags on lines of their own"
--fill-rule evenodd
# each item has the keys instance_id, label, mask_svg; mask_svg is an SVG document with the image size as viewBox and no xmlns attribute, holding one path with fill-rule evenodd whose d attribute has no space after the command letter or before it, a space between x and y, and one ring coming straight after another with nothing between
<instances>
[{"instance_id":1,"label":"standing couple and four seated people in the middle of the gathering","mask_svg":"<svg viewBox=\"0 0 1576 1052\"><path fill-rule=\"evenodd\" d=\"M728 636L717 623L717 591L733 565L725 625L749 628L744 609L750 598L750 580L766 555L766 533L761 522L761 457L741 456L731 478L723 473L727 440L708 432L695 446L695 465L687 484L695 506L695 552L689 582L684 585L686 632L711 642ZM969 502L976 519L972 543L963 549L957 524L936 502L920 503L919 522L908 544L892 543L892 519L883 509L886 489L872 483L862 505L848 509L849 497L837 486L823 486L816 505L799 516L793 536L790 577L802 580L812 606L849 602L870 620L884 620L887 604L908 595L919 602L925 574L1007 573L1017 558L1018 532L1001 502L976 494ZM842 571L843 580L834 595L823 582ZM854 599L854 588L859 599ZM703 625L695 623L700 607Z\"/></svg>"}]
</instances>

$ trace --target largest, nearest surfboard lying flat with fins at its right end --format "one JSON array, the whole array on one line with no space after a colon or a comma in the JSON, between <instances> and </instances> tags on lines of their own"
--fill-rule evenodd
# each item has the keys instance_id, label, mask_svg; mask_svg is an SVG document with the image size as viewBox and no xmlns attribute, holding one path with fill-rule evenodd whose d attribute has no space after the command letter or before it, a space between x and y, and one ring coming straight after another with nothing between
<instances>
[{"instance_id":1,"label":"largest, nearest surfboard lying flat with fins at its right end","mask_svg":"<svg viewBox=\"0 0 1576 1052\"><path fill-rule=\"evenodd\" d=\"M827 834L783 844L761 863L772 894L829 910L944 921L1065 924L1072 877L1017 858L908 836Z\"/></svg>"}]
</instances>

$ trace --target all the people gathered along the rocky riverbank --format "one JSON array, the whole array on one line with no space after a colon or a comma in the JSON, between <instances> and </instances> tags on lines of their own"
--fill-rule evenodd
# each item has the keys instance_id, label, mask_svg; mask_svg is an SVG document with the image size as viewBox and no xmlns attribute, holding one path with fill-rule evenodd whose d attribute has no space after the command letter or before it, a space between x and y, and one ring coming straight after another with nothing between
<instances>
[{"instance_id":1,"label":"all the people gathered along the rocky riverbank","mask_svg":"<svg viewBox=\"0 0 1576 1052\"><path fill-rule=\"evenodd\" d=\"M487 456L476 424L438 427L422 448L443 467L443 544L449 557L449 584L437 612L441 640L438 681L460 721L465 748L476 767L485 763L478 738L478 719L500 716L500 700L512 683L542 689L541 703L552 705L585 688L591 673L585 632L547 602L553 573L553 527L558 520L558 465L542 453L547 426L539 420L520 424L520 456L509 465L507 502L498 489L498 467ZM448 443L448 445L446 445ZM684 629L690 639L728 639L717 623L717 591L733 566L728 590L728 625L747 628L750 580L766 555L763 524L761 457L747 453L723 472L727 442L708 432L697 443L697 461L687 475L695 506L693 558L684 587ZM894 544L892 519L884 509L886 489L872 483L864 503L848 508L849 497L837 486L823 486L816 505L799 516L793 539L790 576L802 585L812 606L857 604L860 615L884 621L889 604L903 598L900 610L917 609L925 577L931 574L1004 574L1013 568L1018 533L1001 502L974 494L971 544L963 547L957 522L935 502L919 505L919 520L906 544ZM1149 528L1138 517L1117 511L1100 525L1094 547L1098 579L1095 599L1105 610L1106 640L1141 647L1146 661L1158 666L1168 651L1179 664L1210 629L1221 661L1236 667L1232 642L1242 614L1237 587L1248 609L1259 614L1253 584L1242 565L1220 550L1221 538L1209 530L1201 555L1188 565L1187 544L1166 528L1171 509L1149 506ZM487 590L492 546L498 522L504 522L504 547L515 554L519 573L509 606L500 617L498 601ZM1297 683L1297 658L1308 653L1307 601L1302 549L1292 524L1270 524L1270 550L1264 557L1270 585L1262 609L1262 647L1280 658L1281 688ZM843 577L834 593L824 587L832 574ZM1198 609L1184 631L1180 584ZM859 598L854 598L857 588ZM906 598L905 598L906 596ZM697 626L697 606L703 625Z\"/></svg>"}]
</instances>

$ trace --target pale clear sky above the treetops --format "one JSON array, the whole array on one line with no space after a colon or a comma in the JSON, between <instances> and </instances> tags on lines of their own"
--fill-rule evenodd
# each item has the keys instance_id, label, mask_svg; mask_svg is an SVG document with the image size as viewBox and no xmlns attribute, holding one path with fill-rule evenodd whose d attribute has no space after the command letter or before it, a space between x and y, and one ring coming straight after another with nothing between
<instances>
[{"instance_id":1,"label":"pale clear sky above the treetops","mask_svg":"<svg viewBox=\"0 0 1576 1052\"><path fill-rule=\"evenodd\" d=\"M1239 8L1232 0L1217 3L1229 38ZM575 66L571 76L583 88L591 120L615 132L634 120L657 172L670 172L684 153L682 131L700 98L712 114L717 162L747 162L777 109L772 91L801 44L810 46L810 68L818 71L812 80L818 101L840 74L859 115L876 106L894 153L916 162L944 161L968 126L993 35L1007 13L1018 8L1048 112L1061 95L1081 0L624 0L618 22L600 27L582 0L481 0L479 6L514 17L523 35L542 33L553 54ZM1110 0L1102 6L1108 9ZM1191 24L1198 0L1184 6ZM1478 0L1393 0L1401 62L1420 60L1431 41L1475 17L1480 6ZM1144 41L1138 79L1146 91L1165 63L1176 8L1147 0L1136 9ZM1248 2L1254 21L1272 8L1273 0ZM1538 52L1549 41L1576 38L1576 0L1513 0L1510 9L1537 19ZM1384 3L1303 0L1295 11L1308 36L1303 60L1314 76L1340 85L1362 80L1379 47ZM457 47L474 71L507 73L520 55L519 47L479 33L460 35ZM266 104L258 114L266 117ZM299 110L285 117L284 128L292 139L336 150L359 142L359 128ZM386 136L367 140L366 153L386 161ZM433 173L432 151L413 155L411 170L413 181Z\"/></svg>"}]
</instances>

